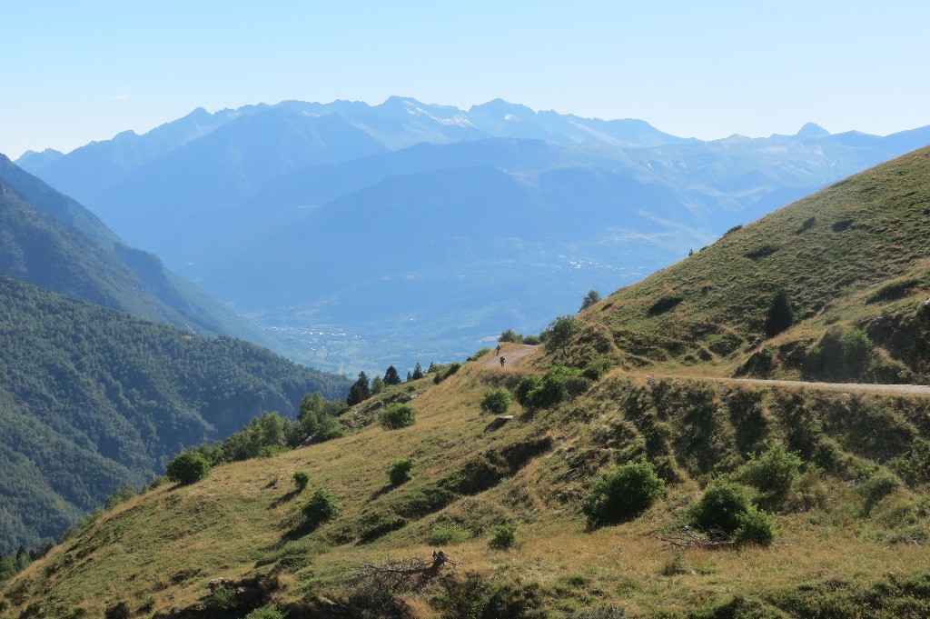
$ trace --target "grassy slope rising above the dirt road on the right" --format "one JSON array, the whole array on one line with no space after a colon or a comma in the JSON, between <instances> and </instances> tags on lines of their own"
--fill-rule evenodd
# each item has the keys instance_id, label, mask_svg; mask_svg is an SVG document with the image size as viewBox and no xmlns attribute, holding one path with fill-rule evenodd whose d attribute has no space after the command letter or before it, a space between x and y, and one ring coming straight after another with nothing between
<instances>
[{"instance_id":1,"label":"grassy slope rising above the dirt road on the right","mask_svg":"<svg viewBox=\"0 0 930 619\"><path fill-rule=\"evenodd\" d=\"M930 149L923 149L618 290L580 316L587 328L564 358L606 354L656 370L925 383L928 232ZM794 322L770 337L765 320L780 289ZM863 348L861 367L846 368L855 371L831 371L811 355L830 328L863 330L881 350Z\"/></svg>"}]
</instances>

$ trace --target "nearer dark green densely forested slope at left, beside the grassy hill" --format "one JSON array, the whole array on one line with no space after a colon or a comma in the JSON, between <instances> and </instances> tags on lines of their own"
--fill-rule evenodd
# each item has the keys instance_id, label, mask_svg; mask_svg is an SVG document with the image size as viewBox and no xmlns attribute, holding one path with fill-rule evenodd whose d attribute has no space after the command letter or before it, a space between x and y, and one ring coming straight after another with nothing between
<instances>
[{"instance_id":1,"label":"nearer dark green densely forested slope at left, beside the grassy hill","mask_svg":"<svg viewBox=\"0 0 930 619\"><path fill-rule=\"evenodd\" d=\"M182 446L348 381L0 276L0 553L52 540Z\"/></svg>"}]
</instances>

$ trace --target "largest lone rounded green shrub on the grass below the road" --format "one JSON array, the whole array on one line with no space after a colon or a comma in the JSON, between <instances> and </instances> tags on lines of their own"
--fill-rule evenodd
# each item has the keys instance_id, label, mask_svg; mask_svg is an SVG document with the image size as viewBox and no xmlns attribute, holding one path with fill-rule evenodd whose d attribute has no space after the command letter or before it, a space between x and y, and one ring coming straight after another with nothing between
<instances>
[{"instance_id":1,"label":"largest lone rounded green shrub on the grass below the road","mask_svg":"<svg viewBox=\"0 0 930 619\"><path fill-rule=\"evenodd\" d=\"M592 526L616 524L641 514L664 493L665 482L652 464L620 464L594 483L582 511Z\"/></svg>"}]
</instances>

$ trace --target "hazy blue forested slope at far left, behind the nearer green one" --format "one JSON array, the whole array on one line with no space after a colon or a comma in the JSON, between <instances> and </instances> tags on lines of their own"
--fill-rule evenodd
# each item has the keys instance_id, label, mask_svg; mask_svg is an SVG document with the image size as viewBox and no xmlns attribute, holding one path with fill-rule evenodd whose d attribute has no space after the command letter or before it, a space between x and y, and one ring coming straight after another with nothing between
<instances>
[{"instance_id":1,"label":"hazy blue forested slope at far left, behind the nearer green one","mask_svg":"<svg viewBox=\"0 0 930 619\"><path fill-rule=\"evenodd\" d=\"M76 299L161 320L194 333L219 333L277 346L151 253L130 248L67 195L0 155L0 273Z\"/></svg>"}]
</instances>

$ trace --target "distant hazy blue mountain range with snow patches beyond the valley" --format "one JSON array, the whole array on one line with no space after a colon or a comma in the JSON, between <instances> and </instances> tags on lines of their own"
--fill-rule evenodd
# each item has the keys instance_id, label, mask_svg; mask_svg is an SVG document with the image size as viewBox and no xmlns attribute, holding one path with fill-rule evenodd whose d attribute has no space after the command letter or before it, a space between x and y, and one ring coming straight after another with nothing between
<instances>
[{"instance_id":1,"label":"distant hazy blue mountain range with snow patches beyond the valley","mask_svg":"<svg viewBox=\"0 0 930 619\"><path fill-rule=\"evenodd\" d=\"M927 128L813 124L685 140L640 120L394 97L197 110L19 163L297 358L357 371L538 330L589 289L927 143Z\"/></svg>"}]
</instances>

